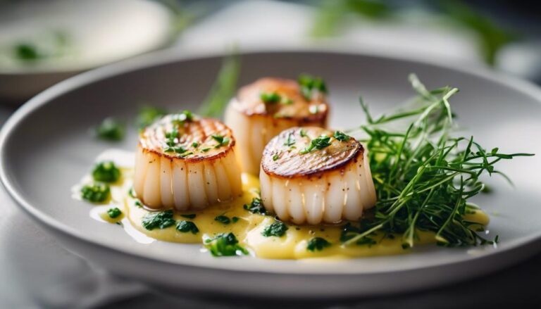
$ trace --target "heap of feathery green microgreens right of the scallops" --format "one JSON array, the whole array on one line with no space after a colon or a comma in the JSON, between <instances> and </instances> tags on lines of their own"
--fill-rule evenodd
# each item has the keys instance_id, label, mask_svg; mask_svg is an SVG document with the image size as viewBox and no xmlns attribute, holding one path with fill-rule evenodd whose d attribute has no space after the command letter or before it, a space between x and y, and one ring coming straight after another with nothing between
<instances>
[{"instance_id":1,"label":"heap of feathery green microgreens right of the scallops","mask_svg":"<svg viewBox=\"0 0 541 309\"><path fill-rule=\"evenodd\" d=\"M433 232L442 246L491 244L478 234L478 224L464 217L476 209L468 199L483 189L482 175L506 177L496 163L533 155L487 151L473 137L456 137L449 99L458 89L429 91L415 75L409 80L418 94L417 106L409 110L373 118L361 100L367 124L359 132L366 135L361 141L370 150L378 201L373 215L344 244L365 242L380 232L402 235L403 247L409 248L419 230ZM397 130L404 122L409 126Z\"/></svg>"}]
</instances>

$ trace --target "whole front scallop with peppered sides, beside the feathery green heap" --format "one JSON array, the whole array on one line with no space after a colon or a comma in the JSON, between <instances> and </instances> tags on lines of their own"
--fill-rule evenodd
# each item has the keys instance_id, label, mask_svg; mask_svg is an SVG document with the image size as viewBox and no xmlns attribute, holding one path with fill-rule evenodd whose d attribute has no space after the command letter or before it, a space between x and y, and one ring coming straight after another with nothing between
<instances>
[{"instance_id":1,"label":"whole front scallop with peppered sides, beside the feathery green heap","mask_svg":"<svg viewBox=\"0 0 541 309\"><path fill-rule=\"evenodd\" d=\"M358 220L376 201L366 154L359 141L342 132L285 130L263 151L263 205L296 224Z\"/></svg>"}]
</instances>

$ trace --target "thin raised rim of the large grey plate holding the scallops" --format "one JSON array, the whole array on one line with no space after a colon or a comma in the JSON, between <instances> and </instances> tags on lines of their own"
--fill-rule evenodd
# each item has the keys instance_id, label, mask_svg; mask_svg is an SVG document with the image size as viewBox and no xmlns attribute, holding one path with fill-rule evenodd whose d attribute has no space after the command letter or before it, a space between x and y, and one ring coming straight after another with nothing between
<instances>
[{"instance_id":1,"label":"thin raised rim of the large grey plate holding the scallops","mask_svg":"<svg viewBox=\"0 0 541 309\"><path fill-rule=\"evenodd\" d=\"M518 92L531 96L537 103L541 103L541 88L537 87L535 84L528 82L526 80L520 80L517 77L512 77L509 75L504 75L500 72L495 72L489 70L488 68L483 68L481 66L467 66L465 64L461 65L448 65L437 61L435 58L421 58L418 56L413 56L412 54L399 54L392 51L377 51L373 50L359 50L359 49L349 49L344 48L335 48L329 46L293 46L293 47L280 47L275 49L243 49L240 51L240 56L242 55L254 55L258 53L329 53L337 56L365 56L373 58L385 58L388 60L394 61L408 61L412 63L419 63L422 65L430 65L444 70L452 70L455 72L465 73L467 75L473 75L475 77L481 78L483 80L490 80L491 82L505 84L507 87L516 89ZM430 263L428 265L423 265L421 267L411 267L403 269L389 269L389 270L364 270L363 272L337 272L336 270L323 269L323 272L313 272L306 270L299 270L292 272L290 270L252 270L252 269L243 269L242 267L223 267L221 265L207 263L182 263L182 262L173 262L171 260L166 260L158 257L144 256L125 248L119 248L116 246L111 246L108 243L103 241L98 241L92 237L88 237L81 231L63 225L63 223L56 218L47 215L44 211L39 208L32 206L30 201L27 201L24 194L15 188L11 178L6 172L5 166L7 166L6 158L6 144L10 139L11 135L20 125L20 122L24 120L27 115L34 113L42 106L45 106L49 101L55 99L56 96L66 94L67 92L73 91L77 88L84 87L87 84L92 84L99 80L107 79L108 77L114 77L116 75L122 75L128 72L135 70L141 70L144 68L151 68L158 65L163 65L167 63L179 62L179 61L191 61L191 60L201 60L206 58L216 58L223 57L227 55L224 51L186 51L185 53L179 54L178 50L175 49L166 49L163 51L156 51L152 53L147 53L142 56L136 56L135 58L130 58L125 61L120 61L118 63L113 63L110 65L105 65L101 68L94 70L89 70L83 72L74 77L70 77L67 80L59 82L54 86L44 90L43 92L37 94L32 99L23 104L11 117L5 122L4 126L0 130L0 181L4 185L4 188L8 192L8 195L11 196L15 204L24 210L25 213L28 213L30 217L34 220L37 220L40 224L44 225L47 229L52 229L53 232L62 233L63 237L70 237L77 241L84 241L85 244L91 246L97 246L101 249L106 249L114 251L115 253L124 254L130 256L131 258L142 258L154 263L166 263L168 265L176 265L182 267L199 267L207 270L222 270L222 271L232 271L232 272L253 272L253 273L265 273L265 274L274 274L274 275L290 275L290 274L302 274L302 275L343 275L343 276L358 276L358 275L378 275L378 274L388 274L388 273L398 273L398 272L409 272L414 270L428 270L433 267L439 267L442 265L459 265L461 263L468 262L479 262L486 258L493 258L494 256L502 255L504 253L509 253L515 251L517 248L521 248L527 244L533 243L535 241L541 240L541 230L537 233L530 234L526 237L521 237L511 244L507 245L505 248L491 251L490 253L479 255L479 256L469 256L468 258L461 258L459 260L447 261L444 263ZM334 271L334 272L333 272Z\"/></svg>"}]
</instances>

